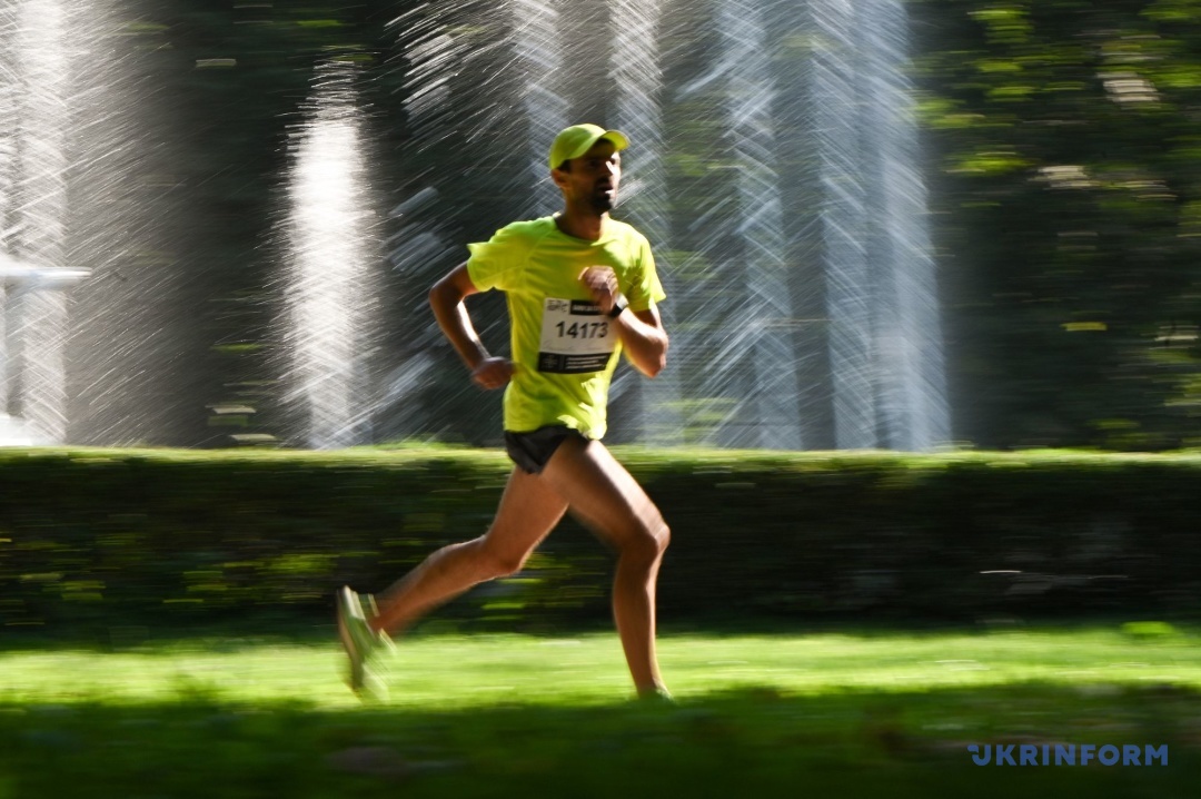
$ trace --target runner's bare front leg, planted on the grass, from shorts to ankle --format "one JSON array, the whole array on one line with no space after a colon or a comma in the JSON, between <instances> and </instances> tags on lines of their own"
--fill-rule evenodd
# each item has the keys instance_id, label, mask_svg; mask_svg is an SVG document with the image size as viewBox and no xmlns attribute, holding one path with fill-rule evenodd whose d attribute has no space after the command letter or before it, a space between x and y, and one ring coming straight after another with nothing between
<instances>
[{"instance_id":1,"label":"runner's bare front leg, planted on the grass, from shorts to ankle","mask_svg":"<svg viewBox=\"0 0 1201 799\"><path fill-rule=\"evenodd\" d=\"M542 473L597 535L617 548L613 613L640 696L664 691L655 652L655 586L670 532L643 487L599 441L568 439Z\"/></svg>"}]
</instances>

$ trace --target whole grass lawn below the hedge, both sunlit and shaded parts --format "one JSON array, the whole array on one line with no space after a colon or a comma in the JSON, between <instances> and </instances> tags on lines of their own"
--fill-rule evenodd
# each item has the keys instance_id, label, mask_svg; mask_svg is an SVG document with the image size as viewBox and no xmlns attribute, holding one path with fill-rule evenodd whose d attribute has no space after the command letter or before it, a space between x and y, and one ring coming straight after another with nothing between
<instances>
[{"instance_id":1,"label":"whole grass lawn below the hedge, both sunlit and shaded parts","mask_svg":"<svg viewBox=\"0 0 1201 799\"><path fill-rule=\"evenodd\" d=\"M0 799L1191 797L1201 776L1197 631L667 634L671 708L631 700L613 633L417 636L376 705L331 640L0 652ZM969 744L1169 762L978 767Z\"/></svg>"}]
</instances>

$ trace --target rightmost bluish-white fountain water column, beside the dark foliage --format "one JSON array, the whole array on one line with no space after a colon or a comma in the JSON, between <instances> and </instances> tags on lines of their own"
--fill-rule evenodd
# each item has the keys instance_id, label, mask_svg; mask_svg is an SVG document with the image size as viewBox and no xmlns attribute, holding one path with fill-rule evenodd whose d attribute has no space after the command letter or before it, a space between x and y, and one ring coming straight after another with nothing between
<instances>
[{"instance_id":1,"label":"rightmost bluish-white fountain water column, beside the dark foliage","mask_svg":"<svg viewBox=\"0 0 1201 799\"><path fill-rule=\"evenodd\" d=\"M896 0L811 2L839 448L950 440L934 267Z\"/></svg>"}]
</instances>

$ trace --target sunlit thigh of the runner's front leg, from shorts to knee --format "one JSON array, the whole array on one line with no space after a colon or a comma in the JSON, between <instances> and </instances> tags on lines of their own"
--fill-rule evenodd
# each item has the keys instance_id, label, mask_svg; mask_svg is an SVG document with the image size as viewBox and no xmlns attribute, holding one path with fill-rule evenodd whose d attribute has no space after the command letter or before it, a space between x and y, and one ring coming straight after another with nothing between
<instances>
[{"instance_id":1,"label":"sunlit thigh of the runner's front leg, from shorts to knee","mask_svg":"<svg viewBox=\"0 0 1201 799\"><path fill-rule=\"evenodd\" d=\"M629 536L659 536L667 527L651 497L599 441L568 439L542 478L573 514L616 543Z\"/></svg>"}]
</instances>

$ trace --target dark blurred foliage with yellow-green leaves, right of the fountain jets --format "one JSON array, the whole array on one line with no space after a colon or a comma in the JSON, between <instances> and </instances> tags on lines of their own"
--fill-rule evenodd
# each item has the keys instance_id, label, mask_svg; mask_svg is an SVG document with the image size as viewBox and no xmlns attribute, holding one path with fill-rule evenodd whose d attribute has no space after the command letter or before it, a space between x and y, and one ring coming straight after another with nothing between
<instances>
[{"instance_id":1,"label":"dark blurred foliage with yellow-green leaves, right of the fountain jets","mask_svg":"<svg viewBox=\"0 0 1201 799\"><path fill-rule=\"evenodd\" d=\"M957 436L1201 437L1201 5L910 4Z\"/></svg>"}]
</instances>

